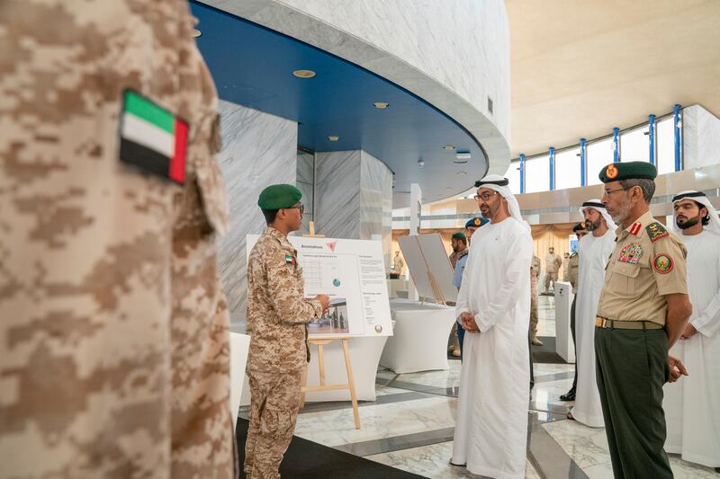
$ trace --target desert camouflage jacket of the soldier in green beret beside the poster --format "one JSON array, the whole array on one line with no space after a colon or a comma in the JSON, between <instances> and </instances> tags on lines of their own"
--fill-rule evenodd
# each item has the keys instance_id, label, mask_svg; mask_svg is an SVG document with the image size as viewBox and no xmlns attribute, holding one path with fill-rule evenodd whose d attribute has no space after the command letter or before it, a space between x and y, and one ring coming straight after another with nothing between
<instances>
[{"instance_id":1,"label":"desert camouflage jacket of the soldier in green beret beside the poster","mask_svg":"<svg viewBox=\"0 0 720 479\"><path fill-rule=\"evenodd\" d=\"M303 287L293 245L268 226L247 260L248 374L296 371L310 361L307 324L322 315L322 305L305 299Z\"/></svg>"}]
</instances>

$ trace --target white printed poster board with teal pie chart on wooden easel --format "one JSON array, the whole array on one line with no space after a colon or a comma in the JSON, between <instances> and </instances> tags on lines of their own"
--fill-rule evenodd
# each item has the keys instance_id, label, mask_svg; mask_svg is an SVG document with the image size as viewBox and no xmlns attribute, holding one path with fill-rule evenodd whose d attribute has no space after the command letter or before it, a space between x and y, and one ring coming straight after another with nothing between
<instances>
[{"instance_id":1,"label":"white printed poster board with teal pie chart on wooden easel","mask_svg":"<svg viewBox=\"0 0 720 479\"><path fill-rule=\"evenodd\" d=\"M247 235L247 258L260 235ZM288 236L298 252L305 297L330 297L329 313L308 324L312 338L392 336L379 241Z\"/></svg>"}]
</instances>

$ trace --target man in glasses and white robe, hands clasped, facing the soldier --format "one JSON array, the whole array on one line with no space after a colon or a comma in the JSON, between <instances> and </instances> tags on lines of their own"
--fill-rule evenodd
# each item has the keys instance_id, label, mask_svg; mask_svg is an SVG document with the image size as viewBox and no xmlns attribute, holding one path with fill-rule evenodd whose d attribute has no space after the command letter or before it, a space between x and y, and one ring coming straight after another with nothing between
<instances>
[{"instance_id":1,"label":"man in glasses and white robe, hands clasped, facing the soldier","mask_svg":"<svg viewBox=\"0 0 720 479\"><path fill-rule=\"evenodd\" d=\"M530 226L508 180L475 182L490 224L473 235L455 312L465 328L451 463L476 475L525 477L530 366Z\"/></svg>"}]
</instances>

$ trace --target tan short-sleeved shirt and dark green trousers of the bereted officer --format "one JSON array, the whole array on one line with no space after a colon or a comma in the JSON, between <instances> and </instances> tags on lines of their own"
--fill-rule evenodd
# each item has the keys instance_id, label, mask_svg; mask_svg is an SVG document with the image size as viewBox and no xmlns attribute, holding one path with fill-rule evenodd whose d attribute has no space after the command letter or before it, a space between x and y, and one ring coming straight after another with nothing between
<instances>
[{"instance_id":1,"label":"tan short-sleeved shirt and dark green trousers of the bereted officer","mask_svg":"<svg viewBox=\"0 0 720 479\"><path fill-rule=\"evenodd\" d=\"M670 376L664 295L688 293L685 256L680 238L650 212L617 228L595 332L598 388L616 477L672 477L663 450L662 385ZM628 322L638 329L620 329Z\"/></svg>"}]
</instances>

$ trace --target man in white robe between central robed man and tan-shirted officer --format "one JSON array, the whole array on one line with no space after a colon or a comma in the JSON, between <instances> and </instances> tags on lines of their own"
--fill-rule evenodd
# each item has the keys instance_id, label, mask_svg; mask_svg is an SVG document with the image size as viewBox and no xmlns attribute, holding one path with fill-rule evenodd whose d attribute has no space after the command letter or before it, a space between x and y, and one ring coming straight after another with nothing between
<instances>
[{"instance_id":1,"label":"man in white robe between central robed man and tan-shirted officer","mask_svg":"<svg viewBox=\"0 0 720 479\"><path fill-rule=\"evenodd\" d=\"M602 428L602 405L595 380L595 318L598 316L600 292L605 284L605 266L615 247L613 218L598 199L585 201L580 207L585 218L585 235L578 244L580 270L575 305L576 361L578 386L575 406L568 412L568 419L581 421L592 428Z\"/></svg>"}]
</instances>

